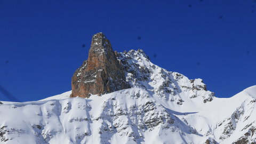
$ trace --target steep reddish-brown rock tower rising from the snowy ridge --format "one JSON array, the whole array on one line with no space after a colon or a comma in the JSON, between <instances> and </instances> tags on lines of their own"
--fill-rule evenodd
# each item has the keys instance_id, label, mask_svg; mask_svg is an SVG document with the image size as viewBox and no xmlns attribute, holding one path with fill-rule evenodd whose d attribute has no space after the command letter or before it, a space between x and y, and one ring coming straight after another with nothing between
<instances>
[{"instance_id":1,"label":"steep reddish-brown rock tower rising from the snowy ridge","mask_svg":"<svg viewBox=\"0 0 256 144\"><path fill-rule=\"evenodd\" d=\"M71 81L70 97L89 98L90 94L105 94L128 89L117 53L102 33L93 35L88 60L75 71Z\"/></svg>"}]
</instances>

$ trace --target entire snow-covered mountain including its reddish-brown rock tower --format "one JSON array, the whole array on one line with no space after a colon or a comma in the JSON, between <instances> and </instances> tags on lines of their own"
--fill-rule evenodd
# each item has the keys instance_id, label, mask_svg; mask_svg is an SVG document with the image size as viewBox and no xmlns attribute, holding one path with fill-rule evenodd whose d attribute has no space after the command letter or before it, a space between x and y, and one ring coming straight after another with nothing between
<instances>
[{"instance_id":1,"label":"entire snow-covered mountain including its reddish-brown rock tower","mask_svg":"<svg viewBox=\"0 0 256 144\"><path fill-rule=\"evenodd\" d=\"M92 41L72 91L0 103L0 143L256 143L256 86L217 98L202 79L158 67L142 50L113 52L105 35L94 36L100 45Z\"/></svg>"}]
</instances>

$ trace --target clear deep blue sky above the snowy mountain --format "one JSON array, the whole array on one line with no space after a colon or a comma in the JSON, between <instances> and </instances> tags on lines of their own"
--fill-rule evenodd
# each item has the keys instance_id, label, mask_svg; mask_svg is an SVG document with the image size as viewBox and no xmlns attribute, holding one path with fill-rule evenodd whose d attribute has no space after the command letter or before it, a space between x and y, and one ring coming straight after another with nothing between
<instances>
[{"instance_id":1,"label":"clear deep blue sky above the snowy mountain","mask_svg":"<svg viewBox=\"0 0 256 144\"><path fill-rule=\"evenodd\" d=\"M253 0L0 0L0 85L20 101L71 90L98 32L114 50L143 49L158 66L202 78L217 97L256 84Z\"/></svg>"}]
</instances>

